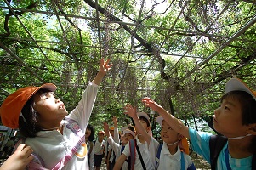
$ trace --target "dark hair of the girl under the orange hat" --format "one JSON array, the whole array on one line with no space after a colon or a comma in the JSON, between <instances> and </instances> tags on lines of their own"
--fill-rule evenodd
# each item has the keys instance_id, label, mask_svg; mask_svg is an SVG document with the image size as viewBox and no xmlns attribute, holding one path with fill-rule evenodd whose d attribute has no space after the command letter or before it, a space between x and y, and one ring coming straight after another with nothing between
<instances>
[{"instance_id":1,"label":"dark hair of the girl under the orange hat","mask_svg":"<svg viewBox=\"0 0 256 170\"><path fill-rule=\"evenodd\" d=\"M49 91L48 89L41 88L37 91L36 94L42 96L48 93L53 93ZM26 104L23 106L21 113L24 116L25 120L22 116L19 117L19 130L20 134L24 137L36 137L37 132L41 131L42 128L38 125L38 113L36 110L34 110L34 95L31 96L31 98L26 102Z\"/></svg>"}]
</instances>

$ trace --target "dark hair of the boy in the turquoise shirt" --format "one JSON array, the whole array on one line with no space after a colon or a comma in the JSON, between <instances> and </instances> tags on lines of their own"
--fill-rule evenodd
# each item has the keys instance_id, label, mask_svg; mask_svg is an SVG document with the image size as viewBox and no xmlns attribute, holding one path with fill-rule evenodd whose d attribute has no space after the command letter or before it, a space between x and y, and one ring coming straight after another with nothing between
<instances>
[{"instance_id":1,"label":"dark hair of the boy in the turquoise shirt","mask_svg":"<svg viewBox=\"0 0 256 170\"><path fill-rule=\"evenodd\" d=\"M227 98L237 99L240 103L242 111L242 125L256 123L256 101L253 99L251 94L244 91L231 91L222 96L221 102ZM253 153L256 153L255 143L256 136L253 137L252 143L248 148L248 150L253 150Z\"/></svg>"}]
</instances>

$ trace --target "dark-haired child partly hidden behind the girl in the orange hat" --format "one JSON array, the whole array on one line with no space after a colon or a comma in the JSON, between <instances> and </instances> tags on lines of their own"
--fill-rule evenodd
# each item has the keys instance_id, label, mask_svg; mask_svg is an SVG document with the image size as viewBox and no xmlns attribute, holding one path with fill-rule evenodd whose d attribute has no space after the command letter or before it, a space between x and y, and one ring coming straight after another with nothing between
<instances>
[{"instance_id":1,"label":"dark-haired child partly hidden behind the girl in the orange hat","mask_svg":"<svg viewBox=\"0 0 256 170\"><path fill-rule=\"evenodd\" d=\"M88 150L89 169L94 170L94 127L92 125L87 125L84 137Z\"/></svg>"}]
</instances>

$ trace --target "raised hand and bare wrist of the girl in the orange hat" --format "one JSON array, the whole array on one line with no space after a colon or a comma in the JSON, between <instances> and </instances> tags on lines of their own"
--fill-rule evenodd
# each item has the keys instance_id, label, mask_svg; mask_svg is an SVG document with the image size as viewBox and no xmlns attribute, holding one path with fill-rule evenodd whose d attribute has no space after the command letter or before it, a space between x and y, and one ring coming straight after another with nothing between
<instances>
[{"instance_id":1,"label":"raised hand and bare wrist of the girl in the orange hat","mask_svg":"<svg viewBox=\"0 0 256 170\"><path fill-rule=\"evenodd\" d=\"M107 71L111 70L112 64L108 65L109 62L110 62L110 59L107 59L106 62L104 59L100 59L100 71L98 72L96 77L94 77L94 80L92 81L95 84L97 84L98 86L100 85L100 82L102 82L102 79L105 76L105 74L107 73Z\"/></svg>"}]
</instances>

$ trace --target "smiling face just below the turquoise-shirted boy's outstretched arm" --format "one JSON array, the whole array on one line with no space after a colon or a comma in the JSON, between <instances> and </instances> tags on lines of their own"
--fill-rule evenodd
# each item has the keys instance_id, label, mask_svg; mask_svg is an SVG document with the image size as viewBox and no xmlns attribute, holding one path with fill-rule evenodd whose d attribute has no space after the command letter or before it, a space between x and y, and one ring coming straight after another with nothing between
<instances>
[{"instance_id":1,"label":"smiling face just below the turquoise-shirted boy's outstretched arm","mask_svg":"<svg viewBox=\"0 0 256 170\"><path fill-rule=\"evenodd\" d=\"M179 140L179 133L176 133L167 122L162 120L161 138L167 144L174 144Z\"/></svg>"}]
</instances>

